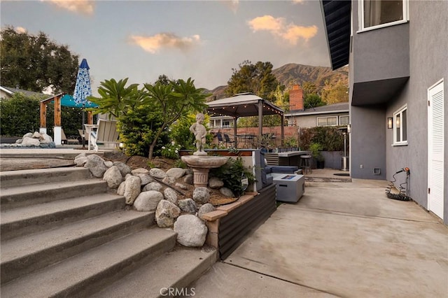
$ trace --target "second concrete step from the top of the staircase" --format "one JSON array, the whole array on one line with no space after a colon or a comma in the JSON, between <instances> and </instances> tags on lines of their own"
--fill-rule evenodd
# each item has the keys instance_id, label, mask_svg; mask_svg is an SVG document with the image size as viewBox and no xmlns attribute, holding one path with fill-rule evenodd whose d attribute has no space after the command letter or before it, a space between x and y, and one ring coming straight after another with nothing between
<instances>
[{"instance_id":1,"label":"second concrete step from the top of the staircase","mask_svg":"<svg viewBox=\"0 0 448 298\"><path fill-rule=\"evenodd\" d=\"M80 197L85 194L99 194L106 191L107 183L101 179L6 187L1 189L0 206L2 211L6 211L12 208Z\"/></svg>"}]
</instances>

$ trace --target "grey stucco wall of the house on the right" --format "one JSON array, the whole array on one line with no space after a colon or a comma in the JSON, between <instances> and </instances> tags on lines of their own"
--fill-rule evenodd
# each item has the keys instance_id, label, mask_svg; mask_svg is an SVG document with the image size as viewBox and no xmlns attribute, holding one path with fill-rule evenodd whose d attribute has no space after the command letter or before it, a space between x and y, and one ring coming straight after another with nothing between
<instances>
[{"instance_id":1,"label":"grey stucco wall of the house on the right","mask_svg":"<svg viewBox=\"0 0 448 298\"><path fill-rule=\"evenodd\" d=\"M356 33L358 1L352 1L352 5L351 176L393 180L393 174L407 166L409 196L428 209L428 88L444 79L443 220L448 224L448 1L409 1L409 23L360 33ZM374 48L385 50L372 51ZM402 87L378 104L363 105L363 98L359 98L362 92L356 92L358 83L405 76L409 79ZM407 146L393 146L393 129L387 129L386 119L405 104ZM381 167L381 175L374 175L372 167ZM395 177L395 185L405 182L405 174Z\"/></svg>"}]
</instances>

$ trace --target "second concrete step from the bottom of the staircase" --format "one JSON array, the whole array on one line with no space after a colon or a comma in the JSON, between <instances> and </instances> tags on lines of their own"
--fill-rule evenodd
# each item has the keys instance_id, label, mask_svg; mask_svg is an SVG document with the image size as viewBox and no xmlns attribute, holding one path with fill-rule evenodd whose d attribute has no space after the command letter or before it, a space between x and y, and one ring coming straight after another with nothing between
<instances>
[{"instance_id":1,"label":"second concrete step from the bottom of the staircase","mask_svg":"<svg viewBox=\"0 0 448 298\"><path fill-rule=\"evenodd\" d=\"M6 283L1 286L1 295L90 297L104 285L119 281L130 271L172 250L175 243L176 233L171 229L144 229Z\"/></svg>"}]
</instances>

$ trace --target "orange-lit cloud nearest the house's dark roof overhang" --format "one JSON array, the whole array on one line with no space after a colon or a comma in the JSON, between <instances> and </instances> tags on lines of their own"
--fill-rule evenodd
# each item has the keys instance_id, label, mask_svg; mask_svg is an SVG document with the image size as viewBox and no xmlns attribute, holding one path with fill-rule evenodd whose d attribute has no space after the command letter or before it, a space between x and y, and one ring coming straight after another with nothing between
<instances>
[{"instance_id":1,"label":"orange-lit cloud nearest the house's dark roof overhang","mask_svg":"<svg viewBox=\"0 0 448 298\"><path fill-rule=\"evenodd\" d=\"M254 32L269 31L272 35L283 38L292 45L296 45L300 38L308 41L316 36L318 31L316 25L303 27L294 23L286 24L286 20L283 17L272 17L272 15L255 17L247 23Z\"/></svg>"}]
</instances>

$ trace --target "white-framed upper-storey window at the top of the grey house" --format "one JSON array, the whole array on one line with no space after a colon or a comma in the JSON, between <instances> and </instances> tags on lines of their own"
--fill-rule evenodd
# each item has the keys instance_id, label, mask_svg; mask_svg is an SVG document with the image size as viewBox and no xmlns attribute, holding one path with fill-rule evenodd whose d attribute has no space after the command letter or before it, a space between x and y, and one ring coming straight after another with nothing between
<instances>
[{"instance_id":1,"label":"white-framed upper-storey window at the top of the grey house","mask_svg":"<svg viewBox=\"0 0 448 298\"><path fill-rule=\"evenodd\" d=\"M407 0L363 0L359 9L361 31L407 22Z\"/></svg>"}]
</instances>

